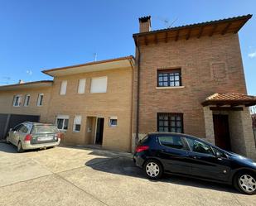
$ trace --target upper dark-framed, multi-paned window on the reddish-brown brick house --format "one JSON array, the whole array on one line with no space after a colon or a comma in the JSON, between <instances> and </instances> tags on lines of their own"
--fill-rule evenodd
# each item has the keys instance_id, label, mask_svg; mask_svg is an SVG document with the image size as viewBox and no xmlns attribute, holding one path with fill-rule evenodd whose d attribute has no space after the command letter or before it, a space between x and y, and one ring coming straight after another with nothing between
<instances>
[{"instance_id":1,"label":"upper dark-framed, multi-paned window on the reddish-brown brick house","mask_svg":"<svg viewBox=\"0 0 256 206\"><path fill-rule=\"evenodd\" d=\"M158 70L157 75L158 87L181 86L181 69Z\"/></svg>"}]
</instances>

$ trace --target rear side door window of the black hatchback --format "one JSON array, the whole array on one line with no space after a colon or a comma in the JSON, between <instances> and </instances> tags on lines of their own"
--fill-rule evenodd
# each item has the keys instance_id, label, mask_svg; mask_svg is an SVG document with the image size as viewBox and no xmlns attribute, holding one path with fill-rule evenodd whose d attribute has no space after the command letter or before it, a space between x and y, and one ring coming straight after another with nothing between
<instances>
[{"instance_id":1,"label":"rear side door window of the black hatchback","mask_svg":"<svg viewBox=\"0 0 256 206\"><path fill-rule=\"evenodd\" d=\"M174 149L187 150L186 146L183 146L181 137L178 136L162 136L158 137L158 141L162 146L168 146Z\"/></svg>"}]
</instances>

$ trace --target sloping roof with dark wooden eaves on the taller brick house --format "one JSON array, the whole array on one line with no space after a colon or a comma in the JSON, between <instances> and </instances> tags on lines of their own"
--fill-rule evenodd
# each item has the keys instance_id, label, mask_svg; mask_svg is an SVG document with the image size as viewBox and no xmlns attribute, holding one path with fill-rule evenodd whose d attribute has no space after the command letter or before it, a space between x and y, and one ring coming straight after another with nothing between
<instances>
[{"instance_id":1,"label":"sloping roof with dark wooden eaves on the taller brick house","mask_svg":"<svg viewBox=\"0 0 256 206\"><path fill-rule=\"evenodd\" d=\"M181 38L188 40L191 37L200 38L200 36L237 33L252 16L252 14L248 14L210 22L201 22L185 26L176 26L167 29L136 33L133 34L133 38L136 45L138 42L147 45L150 41L178 41ZM144 20L147 18L148 17L141 17L140 21L141 19Z\"/></svg>"}]
</instances>

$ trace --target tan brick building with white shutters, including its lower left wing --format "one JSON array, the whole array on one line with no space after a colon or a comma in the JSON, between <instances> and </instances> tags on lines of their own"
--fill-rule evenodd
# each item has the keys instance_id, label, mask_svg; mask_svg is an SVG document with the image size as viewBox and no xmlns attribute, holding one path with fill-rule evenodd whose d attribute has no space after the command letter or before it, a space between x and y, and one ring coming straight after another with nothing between
<instances>
[{"instance_id":1,"label":"tan brick building with white shutters, including its lower left wing","mask_svg":"<svg viewBox=\"0 0 256 206\"><path fill-rule=\"evenodd\" d=\"M131 151L133 65L133 56L94 61L43 70L53 81L1 86L0 119L33 114L56 124L65 144Z\"/></svg>"}]
</instances>

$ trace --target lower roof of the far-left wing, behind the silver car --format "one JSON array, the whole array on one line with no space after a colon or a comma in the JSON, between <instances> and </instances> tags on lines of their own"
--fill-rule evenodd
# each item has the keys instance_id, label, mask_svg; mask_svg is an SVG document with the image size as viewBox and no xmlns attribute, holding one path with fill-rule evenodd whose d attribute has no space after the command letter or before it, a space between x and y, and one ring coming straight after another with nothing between
<instances>
[{"instance_id":1,"label":"lower roof of the far-left wing, behind the silver car","mask_svg":"<svg viewBox=\"0 0 256 206\"><path fill-rule=\"evenodd\" d=\"M8 84L8 85L0 86L0 91L50 87L52 83L53 83L52 80L41 80L41 81L27 82L27 83L21 83L21 84Z\"/></svg>"}]
</instances>

